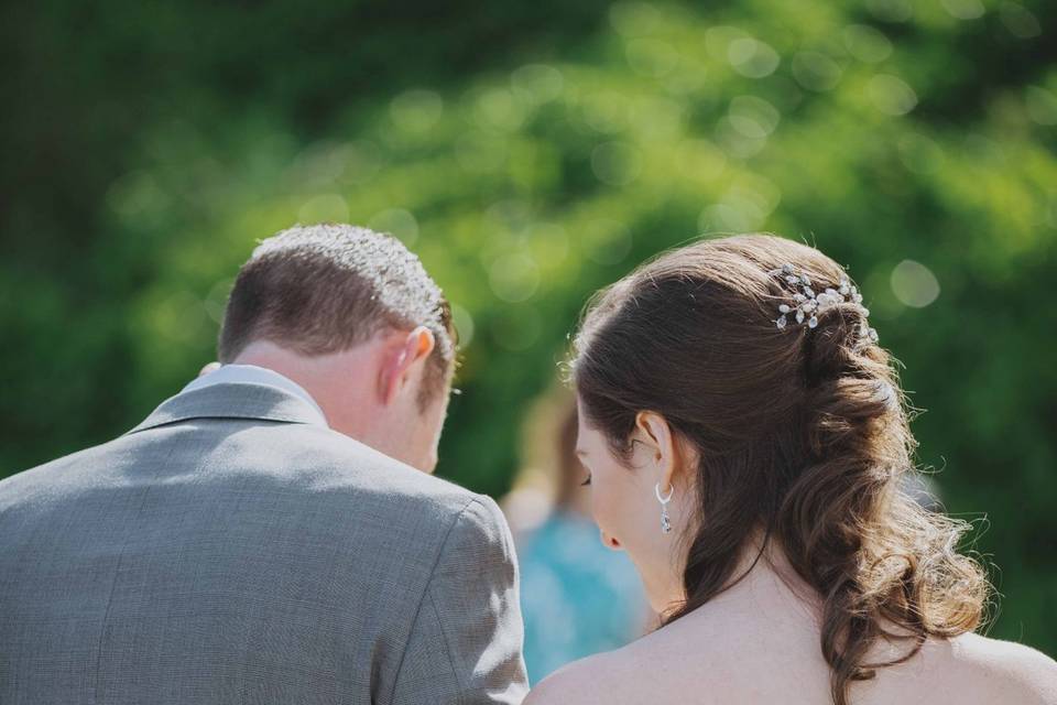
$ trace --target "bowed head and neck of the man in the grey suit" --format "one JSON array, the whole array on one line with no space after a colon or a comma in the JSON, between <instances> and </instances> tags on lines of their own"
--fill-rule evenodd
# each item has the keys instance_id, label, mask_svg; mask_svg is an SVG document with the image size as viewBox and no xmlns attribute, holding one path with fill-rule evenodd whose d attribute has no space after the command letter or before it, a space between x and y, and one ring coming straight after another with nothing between
<instances>
[{"instance_id":1,"label":"bowed head and neck of the man in the grey suit","mask_svg":"<svg viewBox=\"0 0 1057 705\"><path fill-rule=\"evenodd\" d=\"M295 226L261 242L239 272L219 359L285 375L336 431L432 471L455 337L444 294L399 240Z\"/></svg>"}]
</instances>

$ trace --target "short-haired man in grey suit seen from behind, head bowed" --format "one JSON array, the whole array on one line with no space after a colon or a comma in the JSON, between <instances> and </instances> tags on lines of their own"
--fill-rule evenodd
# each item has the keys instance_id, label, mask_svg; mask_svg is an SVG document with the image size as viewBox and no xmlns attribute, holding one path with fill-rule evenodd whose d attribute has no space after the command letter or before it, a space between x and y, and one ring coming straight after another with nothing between
<instances>
[{"instance_id":1,"label":"short-haired man in grey suit seen from behind, head bowed","mask_svg":"<svg viewBox=\"0 0 1057 705\"><path fill-rule=\"evenodd\" d=\"M0 703L519 703L509 529L429 474L454 337L397 240L264 240L224 367L0 482Z\"/></svg>"}]
</instances>

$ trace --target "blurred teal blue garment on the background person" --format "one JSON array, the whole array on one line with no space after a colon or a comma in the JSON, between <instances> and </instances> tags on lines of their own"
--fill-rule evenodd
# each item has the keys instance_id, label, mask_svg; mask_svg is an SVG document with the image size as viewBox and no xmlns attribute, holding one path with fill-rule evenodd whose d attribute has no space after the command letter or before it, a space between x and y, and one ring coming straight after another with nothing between
<instances>
[{"instance_id":1,"label":"blurred teal blue garment on the background person","mask_svg":"<svg viewBox=\"0 0 1057 705\"><path fill-rule=\"evenodd\" d=\"M557 511L522 538L517 555L530 683L642 633L639 574L625 554L602 545L595 522Z\"/></svg>"}]
</instances>

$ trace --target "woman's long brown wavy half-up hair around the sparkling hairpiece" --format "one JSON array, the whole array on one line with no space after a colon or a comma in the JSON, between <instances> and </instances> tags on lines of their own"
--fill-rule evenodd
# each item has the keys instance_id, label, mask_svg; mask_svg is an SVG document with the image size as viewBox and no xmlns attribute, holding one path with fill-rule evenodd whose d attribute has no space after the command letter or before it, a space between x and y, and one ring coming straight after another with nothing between
<instances>
[{"instance_id":1,"label":"woman's long brown wavy half-up hair around the sparkling hairpiece","mask_svg":"<svg viewBox=\"0 0 1057 705\"><path fill-rule=\"evenodd\" d=\"M686 599L666 623L740 579L732 573L762 531L821 599L821 651L833 702L846 705L853 681L909 659L926 638L976 629L988 583L957 552L965 522L901 489L915 442L892 359L862 335L869 312L849 301L815 329L777 328L795 289L769 272L785 263L816 291L844 275L818 250L770 235L702 240L643 264L589 304L571 380L618 459L643 410L698 449ZM906 651L871 663L882 637Z\"/></svg>"}]
</instances>

